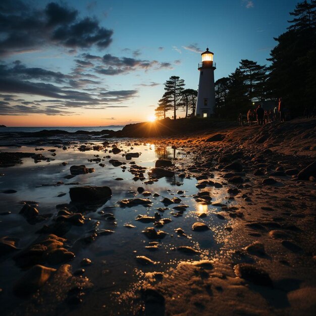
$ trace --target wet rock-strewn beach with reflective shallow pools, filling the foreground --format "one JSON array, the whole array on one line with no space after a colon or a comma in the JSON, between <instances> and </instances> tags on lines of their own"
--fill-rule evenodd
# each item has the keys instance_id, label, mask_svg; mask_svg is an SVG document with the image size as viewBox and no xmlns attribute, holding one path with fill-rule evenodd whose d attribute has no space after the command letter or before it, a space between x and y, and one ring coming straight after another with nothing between
<instances>
[{"instance_id":1,"label":"wet rock-strewn beach with reflective shallow pools, filling the foreground","mask_svg":"<svg viewBox=\"0 0 316 316\"><path fill-rule=\"evenodd\" d=\"M17 248L0 258L2 313L314 314L316 188L312 173L307 179L297 176L314 162L314 122L221 129L223 137L216 131L110 139L104 145L104 140L72 139L64 149L65 140L61 146L37 147L44 150L1 147L51 158L35 163L25 157L23 164L0 171L0 190L16 191L0 193L1 237L11 238ZM289 139L281 141L280 131ZM88 150L79 150L83 144ZM122 151L110 152L116 146ZM140 156L126 160L129 152ZM163 169L175 175L157 180L150 170L161 158L172 161L174 166ZM115 167L111 159L124 164ZM95 170L65 178L74 165ZM112 197L96 205L71 202L69 189L87 185L109 186ZM149 199L148 204L122 203L136 198ZM40 216L19 214L21 201ZM63 223L57 218L65 211L82 214L83 224L55 226L56 237L47 237L47 230L38 233L44 225ZM205 230L192 230L196 222ZM148 227L166 234L142 233ZM58 243L62 255L53 258L48 247L30 260L34 244ZM56 271L37 291L17 293L17 282L35 264ZM85 270L82 275L79 269Z\"/></svg>"}]
</instances>

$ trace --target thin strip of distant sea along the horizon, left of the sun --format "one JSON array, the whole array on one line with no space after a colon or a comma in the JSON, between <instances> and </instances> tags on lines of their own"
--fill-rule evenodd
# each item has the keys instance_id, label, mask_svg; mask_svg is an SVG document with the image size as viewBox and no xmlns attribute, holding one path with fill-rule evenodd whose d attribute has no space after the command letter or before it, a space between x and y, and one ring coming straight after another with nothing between
<instances>
[{"instance_id":1,"label":"thin strip of distant sea along the horizon, left of the sun","mask_svg":"<svg viewBox=\"0 0 316 316\"><path fill-rule=\"evenodd\" d=\"M21 126L11 126L0 128L0 133L10 133L10 132L39 132L42 130L61 130L70 133L76 131L88 131L88 132L100 132L104 129L120 131L124 125L108 125L108 126L40 126L40 127L21 127Z\"/></svg>"}]
</instances>

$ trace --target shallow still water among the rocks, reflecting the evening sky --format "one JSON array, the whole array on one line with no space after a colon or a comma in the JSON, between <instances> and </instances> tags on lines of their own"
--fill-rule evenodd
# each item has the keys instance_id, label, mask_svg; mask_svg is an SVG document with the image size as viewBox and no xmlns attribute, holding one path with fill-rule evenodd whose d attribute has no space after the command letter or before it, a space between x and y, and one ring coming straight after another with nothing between
<instances>
[{"instance_id":1,"label":"shallow still water among the rocks, reflecting the evening sky","mask_svg":"<svg viewBox=\"0 0 316 316\"><path fill-rule=\"evenodd\" d=\"M90 140L89 140L90 141ZM100 144L94 142L93 144ZM213 258L221 250L222 241L225 239L224 226L226 220L220 220L216 213L218 207L213 205L202 205L196 203L192 195L199 190L196 186L196 179L179 178L176 174L173 178L162 178L151 185L145 185L141 181L134 181L128 170L129 162L122 153L139 152L139 158L133 158L132 161L136 165L146 167L146 171L154 167L154 163L159 157L173 159L177 166L191 164L191 157L180 149L164 148L153 144L140 144L122 140L118 143L122 149L120 154L113 154L104 151L79 151L77 146L71 145L67 150L54 146L41 146L44 150L35 151L35 147L22 146L20 148L1 147L1 151L21 151L41 153L44 156L52 157L48 149L56 149L56 156L52 157L50 162L41 161L37 164L31 158L23 159L22 165L16 165L10 168L0 168L0 192L3 190L13 189L17 193L4 194L0 193L0 210L2 212L10 211L10 215L0 216L1 236L10 236L20 238L19 247L23 248L34 241L38 234L35 232L44 224L49 224L54 220L57 214L56 205L70 203L69 188L78 185L101 186L107 185L112 189L112 198L103 205L94 209L86 209L84 217L87 219L83 226L72 226L71 230L64 236L67 238L67 246L70 251L75 253L75 258L69 262L73 266L73 271L80 267L82 258L90 258L92 265L85 268L85 275L93 283L93 288L86 294L83 303L76 313L85 314L88 310L92 310L93 314L104 314L109 308L112 313L119 313L120 306L115 301L109 301L111 293L126 290L129 285L139 278L139 271L166 271L170 267L174 267L181 260L196 260L199 258ZM133 148L133 149L131 149ZM107 148L108 150L111 149ZM109 159L104 159L101 163L105 167L100 167L99 162L88 162L88 159L94 159L95 155L99 155L101 159L110 154L111 159L117 159L125 162L127 169L124 171L121 167L113 167L109 163ZM67 166L61 165L62 162L68 162ZM95 172L78 175L72 179L65 179L70 174L69 168L72 165L85 165L87 168L95 168ZM144 174L145 180L148 180L147 173ZM123 178L118 181L116 178ZM215 175L216 178L216 175ZM144 181L145 181L144 180ZM63 184L53 185L62 181ZM71 183L79 182L80 184L71 185ZM70 184L70 185L69 185ZM137 188L141 186L146 191L158 193L160 196L146 196L152 201L152 205L144 207L137 205L134 207L120 207L119 201L124 198L141 197L137 193ZM179 190L184 191L177 194ZM212 202L224 202L226 188L210 188ZM66 193L64 196L58 197L59 194ZM150 241L141 231L146 227L153 227L153 223L141 223L135 221L137 215L153 216L157 212L157 207L165 207L161 202L164 197L172 198L178 196L181 198L180 204L187 204L189 207L182 217L174 217L172 213L176 213L172 207L178 204L167 206L169 209L164 213L160 213L162 218L170 218L171 223L164 225L161 230L168 235L159 240L159 250L148 251L145 248ZM50 219L44 222L30 225L21 215L19 211L22 207L21 201L36 201L40 214L53 214ZM116 224L104 219L104 213L113 213ZM207 217L199 218L199 214L206 213ZM192 224L195 222L203 222L210 227L206 232L194 232L191 230ZM125 224L135 225L135 228L124 227ZM108 236L99 236L92 243L83 243L80 239L91 234L91 230L110 229L115 233ZM175 229L181 227L188 237L178 236ZM158 230L158 228L157 228ZM199 255L188 255L176 251L178 246L191 246L201 253ZM152 266L140 266L136 261L137 255L144 255L157 262ZM53 266L54 267L54 266ZM58 268L58 266L55 268ZM12 310L14 306L21 303L22 300L16 299L12 294L12 284L23 275L23 271L15 266L13 259L6 258L0 261L0 288L3 289L2 299L5 302L2 305L4 311ZM5 300L4 300L5 298ZM104 305L106 307L104 307ZM103 307L102 307L103 306ZM71 309L64 310L63 314L72 314ZM124 314L124 312L121 314Z\"/></svg>"}]
</instances>

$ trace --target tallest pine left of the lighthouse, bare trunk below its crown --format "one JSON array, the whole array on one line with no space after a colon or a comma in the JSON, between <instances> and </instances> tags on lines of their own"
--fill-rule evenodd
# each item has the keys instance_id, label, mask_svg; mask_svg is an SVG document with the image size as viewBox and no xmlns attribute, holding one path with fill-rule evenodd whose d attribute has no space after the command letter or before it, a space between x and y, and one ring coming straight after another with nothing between
<instances>
[{"instance_id":1,"label":"tallest pine left of the lighthouse, bare trunk below its crown","mask_svg":"<svg viewBox=\"0 0 316 316\"><path fill-rule=\"evenodd\" d=\"M182 105L182 91L184 90L184 80L178 76L171 76L169 80L165 82L166 92L163 95L163 99L168 104L172 104L174 110L174 120L177 119L176 110Z\"/></svg>"}]
</instances>

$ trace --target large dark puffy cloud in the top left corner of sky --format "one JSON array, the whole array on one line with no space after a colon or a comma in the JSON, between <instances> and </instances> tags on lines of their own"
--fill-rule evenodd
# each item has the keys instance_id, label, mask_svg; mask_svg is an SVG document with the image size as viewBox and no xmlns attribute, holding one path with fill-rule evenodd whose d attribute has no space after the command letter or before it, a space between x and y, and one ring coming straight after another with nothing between
<instances>
[{"instance_id":1,"label":"large dark puffy cloud in the top left corner of sky","mask_svg":"<svg viewBox=\"0 0 316 316\"><path fill-rule=\"evenodd\" d=\"M2 0L0 5L0 55L39 49L44 45L105 48L113 31L95 18L78 18L77 10L49 3L42 11L28 9L21 1Z\"/></svg>"}]
</instances>

